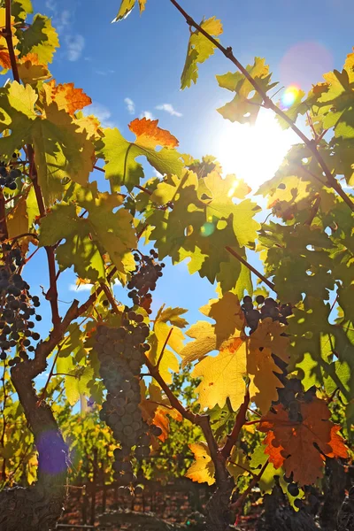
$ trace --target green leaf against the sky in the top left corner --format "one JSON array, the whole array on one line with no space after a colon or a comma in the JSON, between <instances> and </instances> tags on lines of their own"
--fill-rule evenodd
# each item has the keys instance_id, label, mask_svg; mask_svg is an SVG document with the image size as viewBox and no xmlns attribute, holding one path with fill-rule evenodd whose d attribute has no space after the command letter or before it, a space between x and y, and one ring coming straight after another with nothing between
<instances>
[{"instance_id":1,"label":"green leaf against the sky in the top left corner","mask_svg":"<svg viewBox=\"0 0 354 531\"><path fill-rule=\"evenodd\" d=\"M51 20L43 15L35 15L31 26L21 34L21 55L35 53L44 65L51 63L58 46L58 34Z\"/></svg>"}]
</instances>

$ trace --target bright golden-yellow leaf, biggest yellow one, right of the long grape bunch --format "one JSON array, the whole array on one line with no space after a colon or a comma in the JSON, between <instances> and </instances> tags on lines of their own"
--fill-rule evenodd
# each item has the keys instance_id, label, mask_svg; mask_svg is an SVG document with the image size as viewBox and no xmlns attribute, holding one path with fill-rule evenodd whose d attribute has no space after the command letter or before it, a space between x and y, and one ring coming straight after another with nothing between
<instances>
[{"instance_id":1,"label":"bright golden-yellow leaf, biggest yellow one, right of the long grape bunch","mask_svg":"<svg viewBox=\"0 0 354 531\"><path fill-rule=\"evenodd\" d=\"M246 391L245 375L246 343L241 337L225 343L215 358L208 357L200 361L192 376L202 379L196 389L202 410L212 409L216 404L222 408L229 398L233 410L237 411Z\"/></svg>"}]
</instances>

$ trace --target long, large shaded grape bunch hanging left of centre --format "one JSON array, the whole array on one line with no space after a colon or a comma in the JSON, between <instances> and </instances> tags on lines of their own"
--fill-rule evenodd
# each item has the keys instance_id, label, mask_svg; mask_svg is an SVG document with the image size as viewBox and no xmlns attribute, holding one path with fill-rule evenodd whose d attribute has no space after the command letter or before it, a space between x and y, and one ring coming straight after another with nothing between
<instances>
[{"instance_id":1,"label":"long, large shaded grape bunch hanging left of centre","mask_svg":"<svg viewBox=\"0 0 354 531\"><path fill-rule=\"evenodd\" d=\"M118 328L99 325L96 331L96 351L100 362L100 375L107 389L100 418L112 428L120 448L114 450L114 479L121 486L136 483L130 460L135 447L135 458L150 455L150 435L158 436L161 430L149 426L142 419L140 409L140 373L144 354L150 349L145 342L150 329L141 314L127 312Z\"/></svg>"}]
</instances>

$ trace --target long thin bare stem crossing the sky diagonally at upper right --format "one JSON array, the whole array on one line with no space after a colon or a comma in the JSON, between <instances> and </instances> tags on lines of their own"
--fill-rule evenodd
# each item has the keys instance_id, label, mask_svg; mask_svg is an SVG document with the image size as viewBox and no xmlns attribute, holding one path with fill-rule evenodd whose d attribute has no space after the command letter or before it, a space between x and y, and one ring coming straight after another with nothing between
<instances>
[{"instance_id":1,"label":"long thin bare stem crossing the sky diagonally at upper right","mask_svg":"<svg viewBox=\"0 0 354 531\"><path fill-rule=\"evenodd\" d=\"M259 96L262 96L264 101L264 107L266 109L271 109L275 114L277 114L281 119L287 122L289 127L296 133L296 135L304 142L304 144L307 146L307 148L312 152L312 155L314 158L316 158L317 162L319 163L320 167L322 168L323 173L325 173L327 178L327 186L329 188L333 188L338 196L342 197L342 200L344 203L346 203L352 212L354 212L354 203L351 201L350 196L348 196L344 190L342 189L340 183L336 181L334 175L330 172L329 168L327 167L326 162L322 158L321 154L319 153L319 150L317 149L317 141L312 140L308 138L304 133L299 129L296 124L293 122L289 116L281 111L281 109L273 103L270 97L266 95L266 92L262 89L262 87L258 84L258 81L252 78L249 72L247 72L246 68L238 61L238 59L235 58L235 55L233 53L233 50L231 46L225 48L222 44L219 43L212 35L210 35L207 31L204 30L203 27L201 27L199 24L196 23L190 15L184 11L184 9L181 7L181 5L176 0L170 0L171 4L174 5L174 7L181 13L181 15L186 20L187 24L190 27L195 27L197 31L199 31L208 41L212 42L212 44L220 50L224 56L229 59L234 65L240 70L240 72L244 75L244 77L247 79L247 81L250 82L253 89L258 92Z\"/></svg>"}]
</instances>

